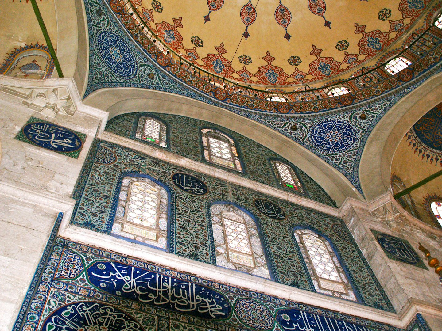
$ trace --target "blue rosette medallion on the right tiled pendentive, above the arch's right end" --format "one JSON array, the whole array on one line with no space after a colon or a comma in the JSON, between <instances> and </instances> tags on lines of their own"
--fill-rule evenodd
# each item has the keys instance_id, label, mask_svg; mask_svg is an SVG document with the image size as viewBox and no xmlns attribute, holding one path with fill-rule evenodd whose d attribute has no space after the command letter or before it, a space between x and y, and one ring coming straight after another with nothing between
<instances>
[{"instance_id":1,"label":"blue rosette medallion on the right tiled pendentive, above the arch's right end","mask_svg":"<svg viewBox=\"0 0 442 331\"><path fill-rule=\"evenodd\" d=\"M336 153L348 150L358 140L356 129L341 120L328 120L316 124L310 131L310 140L322 150Z\"/></svg>"}]
</instances>

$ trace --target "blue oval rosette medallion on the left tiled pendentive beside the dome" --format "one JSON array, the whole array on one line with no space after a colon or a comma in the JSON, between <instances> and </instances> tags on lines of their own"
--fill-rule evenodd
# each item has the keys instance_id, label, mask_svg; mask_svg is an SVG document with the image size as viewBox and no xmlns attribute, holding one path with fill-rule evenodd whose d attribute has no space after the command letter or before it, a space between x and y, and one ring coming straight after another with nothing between
<instances>
[{"instance_id":1,"label":"blue oval rosette medallion on the left tiled pendentive beside the dome","mask_svg":"<svg viewBox=\"0 0 442 331\"><path fill-rule=\"evenodd\" d=\"M106 66L122 78L130 79L137 73L137 63L132 50L118 34L108 30L97 36L97 45Z\"/></svg>"}]
</instances>

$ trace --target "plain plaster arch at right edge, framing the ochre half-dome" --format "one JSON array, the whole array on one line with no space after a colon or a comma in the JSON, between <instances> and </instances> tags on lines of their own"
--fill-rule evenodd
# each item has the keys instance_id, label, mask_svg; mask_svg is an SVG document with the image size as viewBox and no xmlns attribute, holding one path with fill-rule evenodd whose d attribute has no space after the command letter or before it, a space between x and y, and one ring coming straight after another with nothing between
<instances>
[{"instance_id":1,"label":"plain plaster arch at right edge, framing the ochre half-dome","mask_svg":"<svg viewBox=\"0 0 442 331\"><path fill-rule=\"evenodd\" d=\"M359 179L366 199L390 189L393 157L413 124L442 102L442 73L428 78L401 98L376 124L367 139L359 165Z\"/></svg>"}]
</instances>

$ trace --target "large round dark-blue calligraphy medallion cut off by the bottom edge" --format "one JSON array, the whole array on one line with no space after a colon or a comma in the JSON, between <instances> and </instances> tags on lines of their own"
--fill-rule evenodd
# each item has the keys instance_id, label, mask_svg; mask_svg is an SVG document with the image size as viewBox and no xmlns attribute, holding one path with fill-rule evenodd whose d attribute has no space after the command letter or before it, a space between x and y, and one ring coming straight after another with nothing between
<instances>
[{"instance_id":1,"label":"large round dark-blue calligraphy medallion cut off by the bottom edge","mask_svg":"<svg viewBox=\"0 0 442 331\"><path fill-rule=\"evenodd\" d=\"M144 331L144 328L122 310L102 303L75 302L55 310L44 321L45 331Z\"/></svg>"}]
</instances>

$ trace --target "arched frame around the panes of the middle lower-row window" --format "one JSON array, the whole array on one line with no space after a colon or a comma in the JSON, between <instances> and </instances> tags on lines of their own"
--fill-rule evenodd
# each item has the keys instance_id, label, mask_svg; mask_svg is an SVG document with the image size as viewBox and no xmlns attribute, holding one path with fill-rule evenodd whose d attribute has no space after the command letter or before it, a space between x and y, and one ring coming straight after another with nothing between
<instances>
[{"instance_id":1,"label":"arched frame around the panes of the middle lower-row window","mask_svg":"<svg viewBox=\"0 0 442 331\"><path fill-rule=\"evenodd\" d=\"M214 240L214 237L213 237L212 212L211 212L211 208L212 208L213 205L231 205L232 207L237 208L240 211L242 211L245 214L247 214L253 220L253 222L255 222L255 226L256 226L256 229L258 231L258 238L259 238L259 241L260 241L260 244L261 244L261 248L263 250L263 256L264 256L264 258L266 260L267 270L269 271L269 278L264 278L264 279L270 279L270 280L273 280L275 282L279 282L279 278L277 277L278 273L276 272L275 263L274 263L274 260L273 260L273 256L271 255L271 250L269 249L269 243L268 243L267 237L263 233L263 231L261 230L262 229L261 220L258 217L256 217L254 214L252 214L250 211L248 211L246 208L241 207L239 204L234 203L232 201L211 200L211 201L207 201L206 202L206 214L207 214L207 220L208 220L207 223L208 223L208 232L209 232L210 260L211 260L211 263L216 265L217 267L225 268L227 270L234 270L236 272L242 272L242 273L247 274L247 275L252 275L252 274L247 273L245 271L240 271L240 270L236 270L236 269L232 269L232 268L228 268L228 267L217 265L217 263L216 263L215 240ZM225 240L226 240L226 238L225 238ZM263 278L263 277L261 277L259 275L252 275L252 276Z\"/></svg>"}]
</instances>

